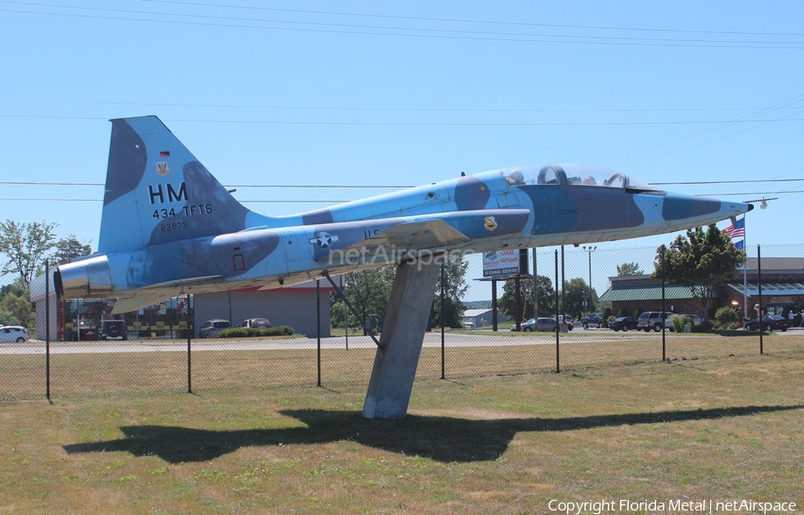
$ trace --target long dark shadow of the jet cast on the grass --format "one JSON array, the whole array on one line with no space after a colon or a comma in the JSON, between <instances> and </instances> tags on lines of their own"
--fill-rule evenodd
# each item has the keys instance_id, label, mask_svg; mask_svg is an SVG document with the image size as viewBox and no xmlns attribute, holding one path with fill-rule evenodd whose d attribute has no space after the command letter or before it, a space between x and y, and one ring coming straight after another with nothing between
<instances>
[{"instance_id":1,"label":"long dark shadow of the jet cast on the grass","mask_svg":"<svg viewBox=\"0 0 804 515\"><path fill-rule=\"evenodd\" d=\"M577 429L657 424L686 420L726 419L759 413L800 410L804 405L740 406L710 410L658 411L565 419L457 419L408 415L404 420L364 419L358 411L292 410L282 415L300 420L303 428L214 431L175 426L124 426L125 437L103 442L63 445L67 453L127 452L158 456L169 463L208 461L241 447L327 444L353 441L391 453L423 456L435 461L493 461L505 453L520 431Z\"/></svg>"}]
</instances>

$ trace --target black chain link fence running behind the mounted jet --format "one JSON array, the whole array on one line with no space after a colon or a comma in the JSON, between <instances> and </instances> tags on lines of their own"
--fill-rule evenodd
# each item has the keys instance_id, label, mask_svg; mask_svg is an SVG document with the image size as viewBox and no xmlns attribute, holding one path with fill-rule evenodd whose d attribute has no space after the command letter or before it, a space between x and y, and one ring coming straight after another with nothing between
<instances>
[{"instance_id":1,"label":"black chain link fence running behind the mounted jet","mask_svg":"<svg viewBox=\"0 0 804 515\"><path fill-rule=\"evenodd\" d=\"M526 273L518 278L483 278L482 255L465 256L444 267L443 296L441 284L434 285L417 378L804 349L804 248L746 250L746 264L706 301L689 287L663 285L655 248L527 251L527 267L520 265ZM367 384L376 353L371 334L381 332L392 276L392 270L345 276L336 286L352 309L322 279L279 291L179 297L125 316L110 316L103 302L57 302L43 276L31 285L30 339L0 343L0 400ZM668 321L658 331L656 324L608 328L621 317L661 322L662 312ZM773 330L743 329L760 312L770 317L761 328L767 320ZM256 319L284 332L223 337L221 327L201 337L215 322L260 325ZM553 325L545 329L542 322Z\"/></svg>"}]
</instances>

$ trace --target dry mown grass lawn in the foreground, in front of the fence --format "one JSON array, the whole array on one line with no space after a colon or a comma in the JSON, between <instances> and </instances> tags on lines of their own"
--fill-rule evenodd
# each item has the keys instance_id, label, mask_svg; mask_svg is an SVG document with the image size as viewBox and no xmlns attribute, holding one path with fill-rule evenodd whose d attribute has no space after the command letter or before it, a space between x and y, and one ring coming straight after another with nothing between
<instances>
[{"instance_id":1,"label":"dry mown grass lawn in the foreground, in front of the fence","mask_svg":"<svg viewBox=\"0 0 804 515\"><path fill-rule=\"evenodd\" d=\"M802 368L794 352L418 378L402 421L361 417L365 383L2 403L0 513L800 511Z\"/></svg>"}]
</instances>

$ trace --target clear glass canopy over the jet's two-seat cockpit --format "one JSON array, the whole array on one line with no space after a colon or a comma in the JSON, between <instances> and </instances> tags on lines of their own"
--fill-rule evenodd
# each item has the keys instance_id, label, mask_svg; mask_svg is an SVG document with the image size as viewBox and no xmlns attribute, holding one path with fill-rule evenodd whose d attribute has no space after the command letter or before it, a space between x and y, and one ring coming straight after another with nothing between
<instances>
[{"instance_id":1,"label":"clear glass canopy over the jet's two-seat cockpit","mask_svg":"<svg viewBox=\"0 0 804 515\"><path fill-rule=\"evenodd\" d=\"M512 186L559 185L627 188L638 191L661 191L657 187L633 179L622 171L589 164L549 164L540 169L515 167L502 170Z\"/></svg>"}]
</instances>

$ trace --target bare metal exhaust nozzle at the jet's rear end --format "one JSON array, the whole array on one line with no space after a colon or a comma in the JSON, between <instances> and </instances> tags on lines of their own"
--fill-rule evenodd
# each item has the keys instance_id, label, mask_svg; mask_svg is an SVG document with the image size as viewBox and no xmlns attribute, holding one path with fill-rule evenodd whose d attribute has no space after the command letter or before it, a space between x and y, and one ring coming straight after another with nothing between
<instances>
[{"instance_id":1,"label":"bare metal exhaust nozzle at the jet's rear end","mask_svg":"<svg viewBox=\"0 0 804 515\"><path fill-rule=\"evenodd\" d=\"M102 299L114 289L105 255L60 265L53 278L57 295L64 299Z\"/></svg>"}]
</instances>

